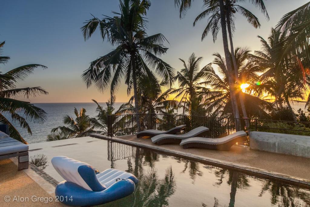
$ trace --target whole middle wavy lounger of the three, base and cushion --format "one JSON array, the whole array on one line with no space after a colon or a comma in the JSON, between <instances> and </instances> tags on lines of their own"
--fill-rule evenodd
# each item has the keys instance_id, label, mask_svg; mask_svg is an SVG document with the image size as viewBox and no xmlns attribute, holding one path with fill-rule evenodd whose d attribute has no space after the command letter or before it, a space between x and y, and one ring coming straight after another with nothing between
<instances>
[{"instance_id":1,"label":"whole middle wavy lounger of the three, base and cushion","mask_svg":"<svg viewBox=\"0 0 310 207\"><path fill-rule=\"evenodd\" d=\"M204 136L206 135L206 133L208 133L208 131L209 128L201 126L194 128L193 130L185 134L159 134L155 137L152 137L152 142L158 145L162 145L165 143L180 143L183 139L196 136Z\"/></svg>"}]
</instances>

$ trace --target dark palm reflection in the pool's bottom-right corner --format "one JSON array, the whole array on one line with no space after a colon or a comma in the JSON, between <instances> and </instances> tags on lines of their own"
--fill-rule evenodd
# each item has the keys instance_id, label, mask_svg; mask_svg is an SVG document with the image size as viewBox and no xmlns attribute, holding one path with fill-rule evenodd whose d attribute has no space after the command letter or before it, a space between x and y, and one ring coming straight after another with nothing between
<instances>
[{"instance_id":1,"label":"dark palm reflection in the pool's bottom-right corner","mask_svg":"<svg viewBox=\"0 0 310 207\"><path fill-rule=\"evenodd\" d=\"M265 181L259 196L269 191L271 193L271 203L278 206L310 206L310 193L298 187L281 184L278 182ZM296 199L299 198L299 199Z\"/></svg>"}]
</instances>

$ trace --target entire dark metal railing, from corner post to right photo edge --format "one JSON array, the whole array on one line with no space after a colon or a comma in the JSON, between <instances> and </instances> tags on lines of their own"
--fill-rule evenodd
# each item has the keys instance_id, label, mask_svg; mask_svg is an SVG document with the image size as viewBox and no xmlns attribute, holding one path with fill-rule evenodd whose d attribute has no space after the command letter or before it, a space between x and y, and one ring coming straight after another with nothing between
<instances>
[{"instance_id":1,"label":"entire dark metal railing, from corner post to right photo edge","mask_svg":"<svg viewBox=\"0 0 310 207\"><path fill-rule=\"evenodd\" d=\"M138 124L139 121L139 124ZM310 122L294 122L267 119L235 119L227 117L207 117L169 114L127 114L108 115L108 136L135 134L147 129L169 130L186 125L186 133L199 126L210 130L206 137L219 138L236 131L266 131L310 136Z\"/></svg>"}]
</instances>

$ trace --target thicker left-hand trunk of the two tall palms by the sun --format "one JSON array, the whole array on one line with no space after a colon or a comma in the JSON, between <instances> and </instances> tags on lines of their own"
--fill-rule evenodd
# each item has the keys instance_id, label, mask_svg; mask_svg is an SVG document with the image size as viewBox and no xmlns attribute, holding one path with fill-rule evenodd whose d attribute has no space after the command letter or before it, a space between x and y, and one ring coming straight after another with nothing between
<instances>
[{"instance_id":1,"label":"thicker left-hand trunk of the two tall palms by the sun","mask_svg":"<svg viewBox=\"0 0 310 207\"><path fill-rule=\"evenodd\" d=\"M227 65L227 78L229 84L229 93L230 99L232 102L232 111L234 114L235 119L240 118L236 92L235 92L235 84L234 84L234 75L232 74L232 65L230 61L230 54L228 49L228 39L227 39L227 31L226 31L226 21L225 21L225 11L224 11L224 2L223 0L219 0L219 9L221 14L221 27L222 27L222 36L223 36L223 46L224 46L224 53ZM237 121L235 120L236 128L238 127Z\"/></svg>"}]
</instances>

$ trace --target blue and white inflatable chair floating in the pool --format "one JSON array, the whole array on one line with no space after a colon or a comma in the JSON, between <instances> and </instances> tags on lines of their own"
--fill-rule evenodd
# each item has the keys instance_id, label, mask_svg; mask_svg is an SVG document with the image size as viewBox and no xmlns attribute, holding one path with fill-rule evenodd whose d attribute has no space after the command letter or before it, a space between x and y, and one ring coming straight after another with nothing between
<instances>
[{"instance_id":1,"label":"blue and white inflatable chair floating in the pool","mask_svg":"<svg viewBox=\"0 0 310 207\"><path fill-rule=\"evenodd\" d=\"M70 206L93 206L131 195L138 179L131 173L106 169L102 173L91 165L65 156L51 160L65 180L56 189L56 198Z\"/></svg>"}]
</instances>

